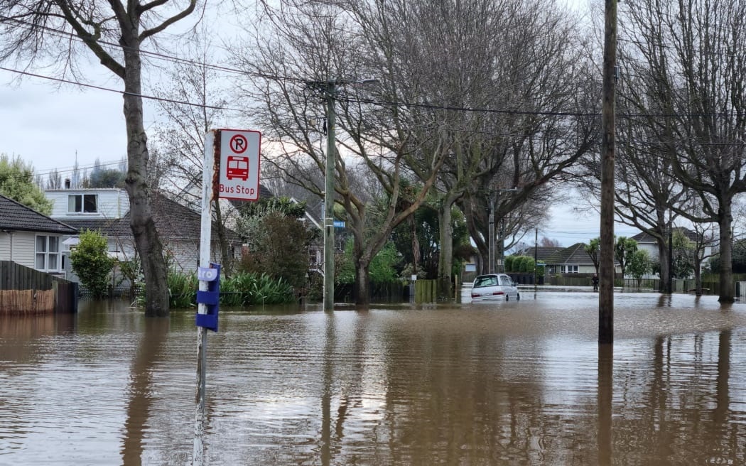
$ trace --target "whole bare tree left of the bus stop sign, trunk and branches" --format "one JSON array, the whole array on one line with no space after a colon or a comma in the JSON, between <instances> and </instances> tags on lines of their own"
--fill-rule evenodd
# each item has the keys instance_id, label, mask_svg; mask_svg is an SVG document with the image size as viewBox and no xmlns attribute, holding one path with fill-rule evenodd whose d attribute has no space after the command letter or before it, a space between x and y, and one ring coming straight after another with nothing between
<instances>
[{"instance_id":1,"label":"whole bare tree left of the bus stop sign, trunk and branches","mask_svg":"<svg viewBox=\"0 0 746 466\"><path fill-rule=\"evenodd\" d=\"M148 145L142 119L142 44L189 16L196 0L70 2L14 0L0 3L0 60L40 64L50 57L61 72L78 72L85 51L124 84L131 228L142 259L145 315L169 314L166 261L155 228L148 172Z\"/></svg>"}]
</instances>

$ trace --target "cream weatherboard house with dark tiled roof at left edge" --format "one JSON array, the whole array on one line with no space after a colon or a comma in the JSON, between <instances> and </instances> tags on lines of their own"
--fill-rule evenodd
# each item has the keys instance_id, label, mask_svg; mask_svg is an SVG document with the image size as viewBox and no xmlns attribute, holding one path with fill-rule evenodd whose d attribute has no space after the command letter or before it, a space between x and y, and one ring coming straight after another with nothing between
<instances>
[{"instance_id":1,"label":"cream weatherboard house with dark tiled roof at left edge","mask_svg":"<svg viewBox=\"0 0 746 466\"><path fill-rule=\"evenodd\" d=\"M74 227L0 195L0 260L62 277L63 240Z\"/></svg>"}]
</instances>

